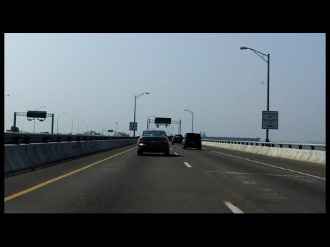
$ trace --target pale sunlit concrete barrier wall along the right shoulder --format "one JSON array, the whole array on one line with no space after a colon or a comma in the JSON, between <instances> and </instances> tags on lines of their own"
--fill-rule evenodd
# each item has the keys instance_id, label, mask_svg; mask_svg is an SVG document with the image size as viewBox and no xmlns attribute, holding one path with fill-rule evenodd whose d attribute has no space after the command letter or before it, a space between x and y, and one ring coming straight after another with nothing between
<instances>
[{"instance_id":1,"label":"pale sunlit concrete barrier wall along the right shoulder","mask_svg":"<svg viewBox=\"0 0 330 247\"><path fill-rule=\"evenodd\" d=\"M281 158L290 158L297 161L307 161L311 163L320 163L325 165L325 151L301 150L292 148L273 148L265 146L217 143L209 141L202 141L201 144L205 146L208 145L212 147L226 148L243 152L252 152L254 154L263 154Z\"/></svg>"}]
</instances>

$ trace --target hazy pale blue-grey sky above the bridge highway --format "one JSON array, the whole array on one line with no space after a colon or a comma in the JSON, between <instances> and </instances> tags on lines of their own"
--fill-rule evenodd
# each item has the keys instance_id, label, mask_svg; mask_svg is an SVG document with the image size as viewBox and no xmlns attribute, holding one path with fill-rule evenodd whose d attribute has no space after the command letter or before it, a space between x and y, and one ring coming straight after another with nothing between
<instances>
[{"instance_id":1,"label":"hazy pale blue-grey sky above the bridge highway","mask_svg":"<svg viewBox=\"0 0 330 247\"><path fill-rule=\"evenodd\" d=\"M84 131L118 122L133 135L134 95L148 92L136 100L135 136L151 115L181 119L190 132L188 109L194 132L264 141L267 62L243 45L270 54L270 141L325 141L325 34L5 34L5 129L14 112L45 106L54 132L57 119L69 133L79 117L74 133L85 119ZM51 124L36 121L36 132ZM33 132L34 122L19 116L17 126Z\"/></svg>"}]
</instances>

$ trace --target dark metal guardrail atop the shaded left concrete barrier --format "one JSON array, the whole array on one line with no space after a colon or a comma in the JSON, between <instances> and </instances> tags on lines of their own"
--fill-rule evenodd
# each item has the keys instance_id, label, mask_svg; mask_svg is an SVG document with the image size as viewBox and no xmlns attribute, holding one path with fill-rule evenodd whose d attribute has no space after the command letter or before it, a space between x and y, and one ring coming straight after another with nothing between
<instances>
[{"instance_id":1,"label":"dark metal guardrail atop the shaded left concrete barrier","mask_svg":"<svg viewBox=\"0 0 330 247\"><path fill-rule=\"evenodd\" d=\"M50 143L50 142L70 142L70 141L102 141L137 139L137 137L113 137L104 135L85 135L85 134L31 134L5 132L5 144L31 144L31 143Z\"/></svg>"}]
</instances>

